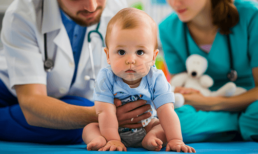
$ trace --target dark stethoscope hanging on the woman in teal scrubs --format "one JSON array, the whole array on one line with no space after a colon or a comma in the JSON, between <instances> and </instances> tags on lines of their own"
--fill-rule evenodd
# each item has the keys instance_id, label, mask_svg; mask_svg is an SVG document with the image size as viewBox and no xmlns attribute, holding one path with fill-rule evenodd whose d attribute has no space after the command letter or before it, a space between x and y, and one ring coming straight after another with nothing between
<instances>
[{"instance_id":1,"label":"dark stethoscope hanging on the woman in teal scrubs","mask_svg":"<svg viewBox=\"0 0 258 154\"><path fill-rule=\"evenodd\" d=\"M187 25L186 23L184 23L185 25L185 43L186 43L186 52L187 52L187 57L190 56L190 52L189 52L189 46L188 46L188 40L187 40ZM228 50L229 50L229 57L230 57L230 71L227 74L227 78L231 81L234 82L237 79L237 72L236 70L233 68L233 58L232 58L232 49L231 49L231 44L230 44L230 38L229 38L229 34L227 35L227 42L228 42Z\"/></svg>"}]
</instances>

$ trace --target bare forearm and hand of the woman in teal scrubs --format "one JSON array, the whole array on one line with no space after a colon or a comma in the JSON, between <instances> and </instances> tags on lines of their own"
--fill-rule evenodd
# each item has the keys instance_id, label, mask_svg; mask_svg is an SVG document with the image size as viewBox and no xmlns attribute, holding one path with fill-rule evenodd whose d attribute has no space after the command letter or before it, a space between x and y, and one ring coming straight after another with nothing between
<instances>
[{"instance_id":1,"label":"bare forearm and hand of the woman in teal scrubs","mask_svg":"<svg viewBox=\"0 0 258 154\"><path fill-rule=\"evenodd\" d=\"M197 110L243 111L252 102L258 100L258 67L252 69L255 87L233 97L204 97L200 93L184 94L185 104Z\"/></svg>"}]
</instances>

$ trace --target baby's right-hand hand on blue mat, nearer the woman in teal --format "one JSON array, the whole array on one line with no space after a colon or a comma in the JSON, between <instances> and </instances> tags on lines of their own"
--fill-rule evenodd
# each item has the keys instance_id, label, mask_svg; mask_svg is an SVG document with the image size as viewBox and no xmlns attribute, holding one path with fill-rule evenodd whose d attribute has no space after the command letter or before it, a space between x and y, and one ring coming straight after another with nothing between
<instances>
[{"instance_id":1,"label":"baby's right-hand hand on blue mat, nearer the woman in teal","mask_svg":"<svg viewBox=\"0 0 258 154\"><path fill-rule=\"evenodd\" d=\"M185 143L183 141L177 140L177 139L170 140L168 142L166 151L176 151L176 152L183 151L183 152L190 152L190 153L196 152L194 148L192 148L188 145L185 145Z\"/></svg>"}]
</instances>

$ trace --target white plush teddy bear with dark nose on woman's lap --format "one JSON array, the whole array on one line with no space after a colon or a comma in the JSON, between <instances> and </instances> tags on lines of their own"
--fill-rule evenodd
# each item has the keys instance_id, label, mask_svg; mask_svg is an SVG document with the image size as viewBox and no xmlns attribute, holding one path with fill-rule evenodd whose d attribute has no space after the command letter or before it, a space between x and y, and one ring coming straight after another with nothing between
<instances>
[{"instance_id":1,"label":"white plush teddy bear with dark nose on woman's lap","mask_svg":"<svg viewBox=\"0 0 258 154\"><path fill-rule=\"evenodd\" d=\"M205 57L199 54L192 54L186 60L187 72L179 73L173 76L170 84L173 87L186 87L200 90L204 96L225 96L238 95L246 91L241 87L236 87L233 82L228 82L216 91L209 90L213 85L213 80L209 75L204 74L207 70L208 62ZM181 93L175 93L174 107L178 108L184 105L184 97Z\"/></svg>"}]
</instances>

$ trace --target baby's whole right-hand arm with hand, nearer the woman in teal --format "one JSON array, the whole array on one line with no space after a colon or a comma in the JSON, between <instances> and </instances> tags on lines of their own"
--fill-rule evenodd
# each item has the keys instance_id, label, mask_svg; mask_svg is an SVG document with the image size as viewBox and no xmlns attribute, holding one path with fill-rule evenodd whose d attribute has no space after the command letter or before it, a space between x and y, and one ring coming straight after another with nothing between
<instances>
[{"instance_id":1,"label":"baby's whole right-hand arm with hand, nearer the woman in teal","mask_svg":"<svg viewBox=\"0 0 258 154\"><path fill-rule=\"evenodd\" d=\"M180 121L174 111L173 103L167 103L157 108L157 115L166 134L168 142L166 151L195 152L194 148L183 142Z\"/></svg>"}]
</instances>

